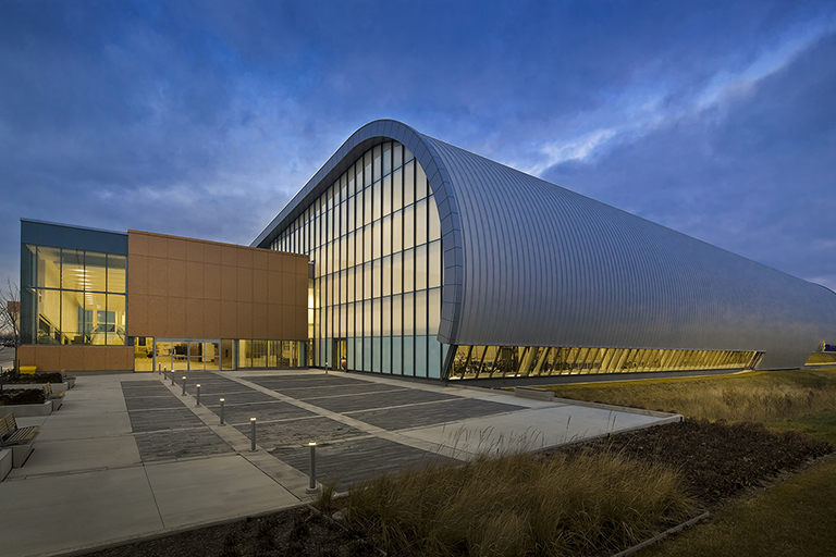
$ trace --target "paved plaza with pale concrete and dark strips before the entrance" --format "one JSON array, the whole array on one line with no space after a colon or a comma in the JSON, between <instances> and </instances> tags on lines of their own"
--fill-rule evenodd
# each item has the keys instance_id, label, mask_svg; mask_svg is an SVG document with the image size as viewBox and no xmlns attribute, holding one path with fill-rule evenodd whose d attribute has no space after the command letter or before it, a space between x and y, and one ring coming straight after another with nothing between
<instances>
[{"instance_id":1,"label":"paved plaza with pale concrete and dark strips before the entrance","mask_svg":"<svg viewBox=\"0 0 836 557\"><path fill-rule=\"evenodd\" d=\"M427 459L532 450L679 419L367 374L185 375L185 396L183 373L173 386L150 373L81 376L58 412L19 419L41 430L24 467L0 483L0 553L57 555L303 504L308 441L319 444L320 480L345 488Z\"/></svg>"}]
</instances>

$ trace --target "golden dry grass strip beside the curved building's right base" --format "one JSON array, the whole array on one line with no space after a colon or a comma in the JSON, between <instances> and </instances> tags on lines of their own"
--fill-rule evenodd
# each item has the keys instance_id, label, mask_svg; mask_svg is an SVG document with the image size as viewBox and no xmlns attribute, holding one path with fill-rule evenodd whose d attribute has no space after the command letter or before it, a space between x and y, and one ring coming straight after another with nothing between
<instances>
[{"instance_id":1,"label":"golden dry grass strip beside the curved building's right base","mask_svg":"<svg viewBox=\"0 0 836 557\"><path fill-rule=\"evenodd\" d=\"M836 409L836 369L544 387L555 396L688 418L777 422Z\"/></svg>"}]
</instances>

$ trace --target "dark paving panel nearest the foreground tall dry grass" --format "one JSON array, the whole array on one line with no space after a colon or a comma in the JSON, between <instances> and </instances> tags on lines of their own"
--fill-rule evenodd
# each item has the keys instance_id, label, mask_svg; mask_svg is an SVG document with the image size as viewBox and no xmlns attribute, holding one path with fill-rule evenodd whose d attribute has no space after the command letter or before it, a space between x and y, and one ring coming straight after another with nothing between
<instances>
[{"instance_id":1,"label":"dark paving panel nearest the foreground tall dry grass","mask_svg":"<svg viewBox=\"0 0 836 557\"><path fill-rule=\"evenodd\" d=\"M276 448L270 451L296 470L308 473L308 447ZM356 438L342 443L317 446L317 480L325 483L339 480L337 490L383 472L398 472L428 462L458 463L458 460L434 453L401 445L379 437ZM431 488L431 486L428 486Z\"/></svg>"}]
</instances>

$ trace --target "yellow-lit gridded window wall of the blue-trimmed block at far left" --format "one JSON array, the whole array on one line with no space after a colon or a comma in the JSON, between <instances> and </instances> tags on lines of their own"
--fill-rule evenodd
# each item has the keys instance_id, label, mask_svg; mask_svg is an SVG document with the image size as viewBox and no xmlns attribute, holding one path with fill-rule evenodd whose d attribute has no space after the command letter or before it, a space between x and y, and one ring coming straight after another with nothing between
<instances>
[{"instance_id":1,"label":"yellow-lit gridded window wall of the blue-trimmed block at far left","mask_svg":"<svg viewBox=\"0 0 836 557\"><path fill-rule=\"evenodd\" d=\"M125 345L125 256L27 244L22 264L25 344Z\"/></svg>"}]
</instances>

